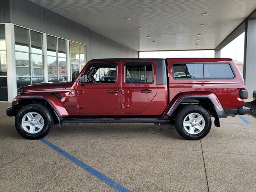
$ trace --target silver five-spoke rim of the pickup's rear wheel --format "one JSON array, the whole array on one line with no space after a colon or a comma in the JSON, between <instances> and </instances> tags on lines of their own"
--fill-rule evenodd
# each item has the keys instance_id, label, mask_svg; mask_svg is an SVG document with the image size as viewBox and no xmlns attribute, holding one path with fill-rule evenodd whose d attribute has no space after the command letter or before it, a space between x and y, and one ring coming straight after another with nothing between
<instances>
[{"instance_id":1,"label":"silver five-spoke rim of the pickup's rear wheel","mask_svg":"<svg viewBox=\"0 0 256 192\"><path fill-rule=\"evenodd\" d=\"M198 113L188 114L183 121L183 127L189 134L198 134L202 132L205 126L205 121L202 115Z\"/></svg>"}]
</instances>

